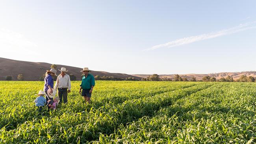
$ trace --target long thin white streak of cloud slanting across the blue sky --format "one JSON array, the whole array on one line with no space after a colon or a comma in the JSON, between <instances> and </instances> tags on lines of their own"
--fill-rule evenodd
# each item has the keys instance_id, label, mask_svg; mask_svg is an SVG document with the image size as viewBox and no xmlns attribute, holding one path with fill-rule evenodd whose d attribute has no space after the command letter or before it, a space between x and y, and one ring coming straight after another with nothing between
<instances>
[{"instance_id":1,"label":"long thin white streak of cloud slanting across the blue sky","mask_svg":"<svg viewBox=\"0 0 256 144\"><path fill-rule=\"evenodd\" d=\"M184 44L189 44L192 42L196 41L202 41L205 39L212 39L215 37L220 37L223 35L230 35L232 33L237 33L240 31L245 31L248 29L256 28L256 22L250 22L250 23L245 23L245 24L240 24L239 26L235 26L233 28L217 31L217 32L211 32L211 33L206 33L202 35L196 35L196 36L191 36L191 37L184 37L182 39L177 39L175 41L167 42L165 44L159 44L156 46L152 46L151 48L145 49L145 50L155 50L158 48L171 48L174 46L181 46Z\"/></svg>"}]
</instances>

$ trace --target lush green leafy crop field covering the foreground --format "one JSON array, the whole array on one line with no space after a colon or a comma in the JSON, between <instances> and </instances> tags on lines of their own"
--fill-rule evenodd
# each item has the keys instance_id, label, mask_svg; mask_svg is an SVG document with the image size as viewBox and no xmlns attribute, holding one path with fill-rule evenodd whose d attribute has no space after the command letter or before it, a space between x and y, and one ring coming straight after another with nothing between
<instances>
[{"instance_id":1,"label":"lush green leafy crop field covering the foreground","mask_svg":"<svg viewBox=\"0 0 256 144\"><path fill-rule=\"evenodd\" d=\"M91 104L72 81L44 114L43 82L0 81L0 143L254 143L256 83L96 81Z\"/></svg>"}]
</instances>

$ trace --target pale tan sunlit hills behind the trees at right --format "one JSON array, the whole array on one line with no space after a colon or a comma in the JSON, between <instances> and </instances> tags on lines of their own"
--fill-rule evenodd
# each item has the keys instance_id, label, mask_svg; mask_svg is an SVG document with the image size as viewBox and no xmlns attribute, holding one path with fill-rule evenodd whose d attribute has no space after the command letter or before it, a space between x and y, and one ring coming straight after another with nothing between
<instances>
[{"instance_id":1,"label":"pale tan sunlit hills behind the trees at right","mask_svg":"<svg viewBox=\"0 0 256 144\"><path fill-rule=\"evenodd\" d=\"M234 80L239 79L240 76L253 76L256 78L256 71L250 71L250 72L221 72L216 74L179 74L182 78L191 79L192 77L195 77L197 80L202 80L204 76L210 76L215 77L216 79L226 78L227 76L233 77ZM137 76L141 78L147 78L150 75L147 74L133 74L132 76ZM166 74L166 75L159 75L160 78L171 78L174 79L174 74Z\"/></svg>"}]
</instances>

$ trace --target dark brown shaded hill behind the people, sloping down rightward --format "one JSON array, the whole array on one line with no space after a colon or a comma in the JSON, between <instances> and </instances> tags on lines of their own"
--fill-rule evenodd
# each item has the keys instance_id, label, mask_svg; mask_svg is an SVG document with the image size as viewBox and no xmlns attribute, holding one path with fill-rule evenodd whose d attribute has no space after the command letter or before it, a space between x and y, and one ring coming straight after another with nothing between
<instances>
[{"instance_id":1,"label":"dark brown shaded hill behind the people, sloping down rightward","mask_svg":"<svg viewBox=\"0 0 256 144\"><path fill-rule=\"evenodd\" d=\"M6 80L6 76L12 76L13 80L17 80L17 76L19 74L23 74L25 81L38 81L39 78L45 74L46 70L50 70L50 63L35 63L28 61L17 61L12 59L6 59L0 57L0 80ZM57 65L57 64L56 64ZM58 69L61 67L67 68L69 70L67 74L73 74L76 76L77 80L81 79L80 72L82 68L73 67L73 66L65 66L65 65L57 65L57 74L60 73ZM113 76L115 78L128 78L133 77L135 79L141 79L141 77L131 76L128 74L121 73L109 73L103 71L91 71L93 76Z\"/></svg>"}]
</instances>

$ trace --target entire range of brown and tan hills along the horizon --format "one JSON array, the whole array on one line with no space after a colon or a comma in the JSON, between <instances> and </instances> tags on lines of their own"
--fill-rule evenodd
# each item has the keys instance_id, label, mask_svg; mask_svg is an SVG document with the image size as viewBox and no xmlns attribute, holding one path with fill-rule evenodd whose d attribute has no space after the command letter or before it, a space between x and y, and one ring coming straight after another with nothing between
<instances>
[{"instance_id":1,"label":"entire range of brown and tan hills along the horizon","mask_svg":"<svg viewBox=\"0 0 256 144\"><path fill-rule=\"evenodd\" d=\"M0 80L6 80L6 76L12 76L13 80L17 80L17 76L19 74L24 75L25 81L38 81L39 78L45 74L46 70L50 70L50 63L36 63L36 62L28 62L28 61L17 61L12 59L6 59L0 57ZM67 68L69 72L67 74L74 74L77 80L81 79L80 72L82 68L73 67L73 66L66 66L66 65L57 65L57 69L61 67ZM60 73L57 70L57 74ZM121 73L109 73L104 71L91 71L93 76L113 76L114 78L128 78L132 77L135 79L147 78L150 75L147 74L121 74ZM240 76L253 76L256 77L256 71L250 72L221 72L216 74L180 74L182 78L191 79L195 77L197 80L201 80L204 76L215 77L216 79L226 78L227 76L233 77L233 79L238 79ZM174 74L166 74L166 75L159 75L160 78L172 78L174 79Z\"/></svg>"}]
</instances>

